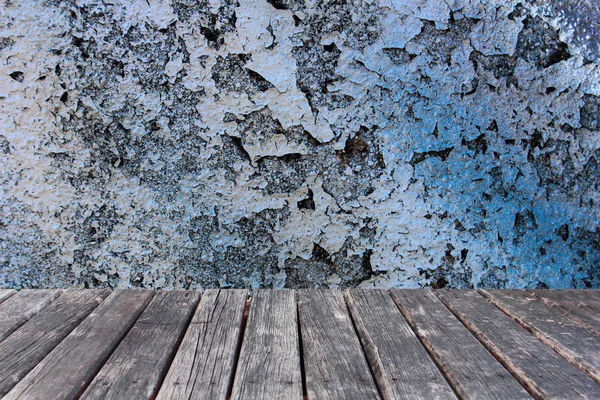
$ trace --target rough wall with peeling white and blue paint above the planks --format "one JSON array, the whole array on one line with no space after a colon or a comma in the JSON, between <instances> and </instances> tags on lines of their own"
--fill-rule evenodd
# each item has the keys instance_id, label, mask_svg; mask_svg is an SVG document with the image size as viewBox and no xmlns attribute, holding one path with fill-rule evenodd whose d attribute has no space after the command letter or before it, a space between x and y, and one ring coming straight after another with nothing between
<instances>
[{"instance_id":1,"label":"rough wall with peeling white and blue paint above the planks","mask_svg":"<svg viewBox=\"0 0 600 400\"><path fill-rule=\"evenodd\" d=\"M0 286L599 287L594 4L5 1Z\"/></svg>"}]
</instances>

